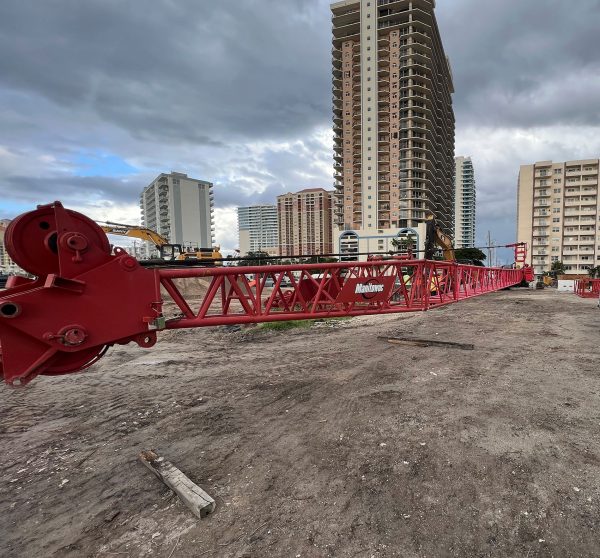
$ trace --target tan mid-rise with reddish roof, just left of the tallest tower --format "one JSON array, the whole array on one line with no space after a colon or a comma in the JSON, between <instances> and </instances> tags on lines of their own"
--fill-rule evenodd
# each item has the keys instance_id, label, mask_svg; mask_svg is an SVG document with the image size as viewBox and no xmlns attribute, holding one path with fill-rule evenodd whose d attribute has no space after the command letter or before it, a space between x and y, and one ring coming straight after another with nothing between
<instances>
[{"instance_id":1,"label":"tan mid-rise with reddish roof, just left of the tallest tower","mask_svg":"<svg viewBox=\"0 0 600 558\"><path fill-rule=\"evenodd\" d=\"M333 192L308 188L277 196L279 255L332 253Z\"/></svg>"}]
</instances>

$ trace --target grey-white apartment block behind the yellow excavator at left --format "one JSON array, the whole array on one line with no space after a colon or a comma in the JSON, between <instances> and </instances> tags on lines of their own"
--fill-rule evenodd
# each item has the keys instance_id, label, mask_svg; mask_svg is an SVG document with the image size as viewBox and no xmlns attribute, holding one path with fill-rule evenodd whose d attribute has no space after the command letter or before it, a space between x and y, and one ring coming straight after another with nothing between
<instances>
[{"instance_id":1,"label":"grey-white apartment block behind the yellow excavator at left","mask_svg":"<svg viewBox=\"0 0 600 558\"><path fill-rule=\"evenodd\" d=\"M160 174L140 196L142 224L171 244L214 245L213 185L187 174Z\"/></svg>"}]
</instances>

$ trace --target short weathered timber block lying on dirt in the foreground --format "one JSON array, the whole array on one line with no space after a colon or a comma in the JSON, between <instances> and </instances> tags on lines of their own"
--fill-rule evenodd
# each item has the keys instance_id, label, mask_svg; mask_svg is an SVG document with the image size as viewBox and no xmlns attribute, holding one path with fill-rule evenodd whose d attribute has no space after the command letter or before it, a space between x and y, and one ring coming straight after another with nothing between
<instances>
[{"instance_id":1,"label":"short weathered timber block lying on dirt in the foreground","mask_svg":"<svg viewBox=\"0 0 600 558\"><path fill-rule=\"evenodd\" d=\"M205 517L215 510L215 501L164 457L149 450L140 453L140 461L175 492L196 517Z\"/></svg>"}]
</instances>

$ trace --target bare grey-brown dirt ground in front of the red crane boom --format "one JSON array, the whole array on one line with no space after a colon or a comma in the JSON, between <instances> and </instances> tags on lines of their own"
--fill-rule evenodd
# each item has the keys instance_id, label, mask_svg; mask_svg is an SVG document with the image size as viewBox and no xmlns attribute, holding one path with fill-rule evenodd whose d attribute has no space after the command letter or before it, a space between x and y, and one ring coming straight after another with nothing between
<instances>
[{"instance_id":1,"label":"bare grey-brown dirt ground in front of the red crane boom","mask_svg":"<svg viewBox=\"0 0 600 558\"><path fill-rule=\"evenodd\" d=\"M168 332L0 388L0 556L600 555L600 310L551 291ZM380 335L475 344L392 345ZM202 521L138 460L217 501Z\"/></svg>"}]
</instances>

